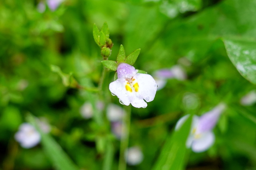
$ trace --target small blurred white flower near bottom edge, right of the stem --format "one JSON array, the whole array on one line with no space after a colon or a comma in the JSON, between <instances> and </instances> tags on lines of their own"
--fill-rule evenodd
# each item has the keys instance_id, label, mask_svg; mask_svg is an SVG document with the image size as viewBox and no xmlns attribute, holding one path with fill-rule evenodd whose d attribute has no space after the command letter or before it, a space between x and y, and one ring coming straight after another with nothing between
<instances>
[{"instance_id":1,"label":"small blurred white flower near bottom edge, right of the stem","mask_svg":"<svg viewBox=\"0 0 256 170\"><path fill-rule=\"evenodd\" d=\"M130 147L125 152L126 163L128 165L138 165L143 160L143 153L139 147Z\"/></svg>"}]
</instances>

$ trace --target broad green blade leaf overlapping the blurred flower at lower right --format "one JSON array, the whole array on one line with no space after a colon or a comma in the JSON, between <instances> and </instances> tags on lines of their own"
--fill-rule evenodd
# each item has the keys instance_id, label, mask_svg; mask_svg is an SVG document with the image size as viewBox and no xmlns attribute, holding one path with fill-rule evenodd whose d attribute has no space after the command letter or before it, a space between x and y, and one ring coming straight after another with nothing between
<instances>
[{"instance_id":1,"label":"broad green blade leaf overlapping the blurred flower at lower right","mask_svg":"<svg viewBox=\"0 0 256 170\"><path fill-rule=\"evenodd\" d=\"M174 131L166 140L153 170L182 170L185 168L186 140L190 132L191 121L192 115L180 129Z\"/></svg>"}]
</instances>

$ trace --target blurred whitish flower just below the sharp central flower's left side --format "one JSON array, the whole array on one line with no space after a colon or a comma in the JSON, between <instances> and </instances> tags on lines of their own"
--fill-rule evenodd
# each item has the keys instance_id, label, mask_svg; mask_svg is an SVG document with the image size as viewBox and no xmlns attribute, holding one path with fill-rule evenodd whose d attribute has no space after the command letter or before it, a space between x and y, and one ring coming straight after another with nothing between
<instances>
[{"instance_id":1,"label":"blurred whitish flower just below the sharp central flower's left side","mask_svg":"<svg viewBox=\"0 0 256 170\"><path fill-rule=\"evenodd\" d=\"M116 104L109 104L107 107L107 117L109 121L122 121L124 109Z\"/></svg>"}]
</instances>

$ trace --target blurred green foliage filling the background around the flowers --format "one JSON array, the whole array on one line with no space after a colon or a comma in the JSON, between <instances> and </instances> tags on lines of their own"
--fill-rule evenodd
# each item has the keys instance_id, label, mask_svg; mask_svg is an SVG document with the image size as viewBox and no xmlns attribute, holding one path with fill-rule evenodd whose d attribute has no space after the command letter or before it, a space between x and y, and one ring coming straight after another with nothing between
<instances>
[{"instance_id":1,"label":"blurred green foliage filling the background around the flowers","mask_svg":"<svg viewBox=\"0 0 256 170\"><path fill-rule=\"evenodd\" d=\"M63 155L80 169L117 169L120 141L106 111L96 109L98 100L119 104L108 89L114 72L106 74L103 94L86 90L102 76L92 30L105 21L114 43L109 60L122 44L126 54L141 49L135 68L151 74L180 64L188 74L185 81L168 80L145 109L132 108L129 146L139 146L144 160L127 169L256 168L256 105L240 104L256 88L255 0L65 0L44 12L38 4L0 2L0 169L50 170L58 167L52 159ZM72 80L86 88L70 88ZM94 115L83 119L80 107L88 101ZM220 102L228 108L214 129L214 146L186 150L188 129L174 133L177 120ZM14 134L30 113L48 119L52 131L40 145L23 149ZM49 143L62 151L52 155Z\"/></svg>"}]
</instances>

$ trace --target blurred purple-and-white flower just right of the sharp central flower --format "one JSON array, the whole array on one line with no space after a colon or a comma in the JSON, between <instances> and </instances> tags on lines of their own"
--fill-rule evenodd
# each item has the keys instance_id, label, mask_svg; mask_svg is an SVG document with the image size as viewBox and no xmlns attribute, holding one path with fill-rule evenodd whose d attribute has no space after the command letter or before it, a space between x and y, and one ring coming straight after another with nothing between
<instances>
[{"instance_id":1,"label":"blurred purple-and-white flower just right of the sharp central flower","mask_svg":"<svg viewBox=\"0 0 256 170\"><path fill-rule=\"evenodd\" d=\"M168 79L176 78L177 80L185 80L186 72L179 65L174 65L170 69L160 69L153 73L158 89L164 88Z\"/></svg>"}]
</instances>

